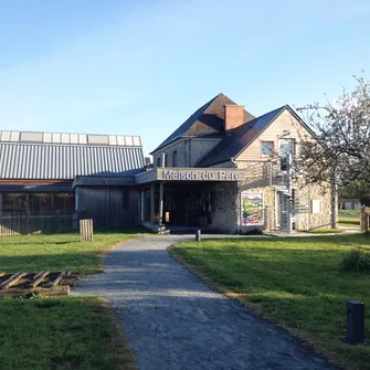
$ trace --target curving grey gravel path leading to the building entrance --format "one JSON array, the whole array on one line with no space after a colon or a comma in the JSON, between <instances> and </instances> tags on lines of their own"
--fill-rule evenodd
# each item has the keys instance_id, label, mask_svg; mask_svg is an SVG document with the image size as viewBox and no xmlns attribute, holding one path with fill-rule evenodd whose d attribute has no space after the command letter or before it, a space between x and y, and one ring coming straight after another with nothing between
<instances>
[{"instance_id":1,"label":"curving grey gravel path leading to the building entrance","mask_svg":"<svg viewBox=\"0 0 370 370\"><path fill-rule=\"evenodd\" d=\"M108 298L140 370L332 369L172 258L167 247L189 237L126 242L105 257L104 274L74 292Z\"/></svg>"}]
</instances>

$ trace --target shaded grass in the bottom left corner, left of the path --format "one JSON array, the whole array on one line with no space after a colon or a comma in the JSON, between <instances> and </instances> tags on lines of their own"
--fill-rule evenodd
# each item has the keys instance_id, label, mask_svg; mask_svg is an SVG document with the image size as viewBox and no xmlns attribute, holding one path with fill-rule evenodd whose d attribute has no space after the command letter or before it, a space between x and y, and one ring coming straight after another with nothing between
<instances>
[{"instance_id":1,"label":"shaded grass in the bottom left corner, left of the path","mask_svg":"<svg viewBox=\"0 0 370 370\"><path fill-rule=\"evenodd\" d=\"M0 300L0 369L136 369L98 298Z\"/></svg>"}]
</instances>

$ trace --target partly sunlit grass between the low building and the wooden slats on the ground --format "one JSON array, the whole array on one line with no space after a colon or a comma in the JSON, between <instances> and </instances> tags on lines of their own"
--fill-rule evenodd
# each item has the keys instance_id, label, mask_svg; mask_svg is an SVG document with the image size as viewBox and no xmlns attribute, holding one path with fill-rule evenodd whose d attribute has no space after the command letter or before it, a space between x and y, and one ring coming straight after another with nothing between
<instances>
[{"instance_id":1,"label":"partly sunlit grass between the low building and the wooden slats on the ground","mask_svg":"<svg viewBox=\"0 0 370 370\"><path fill-rule=\"evenodd\" d=\"M138 232L94 232L94 242L80 242L78 233L8 236L0 239L0 272L71 269L82 275L103 271L103 255Z\"/></svg>"}]
</instances>

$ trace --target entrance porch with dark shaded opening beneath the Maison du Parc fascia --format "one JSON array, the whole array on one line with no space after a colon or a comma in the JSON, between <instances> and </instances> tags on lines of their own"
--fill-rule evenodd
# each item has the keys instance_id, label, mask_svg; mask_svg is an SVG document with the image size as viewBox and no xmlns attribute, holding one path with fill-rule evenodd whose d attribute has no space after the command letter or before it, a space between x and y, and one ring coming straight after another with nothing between
<instances>
[{"instance_id":1,"label":"entrance porch with dark shaded opening beneath the Maison du Parc fascia","mask_svg":"<svg viewBox=\"0 0 370 370\"><path fill-rule=\"evenodd\" d=\"M157 168L136 176L141 184L141 223L222 229L235 214L237 182L244 170L224 168ZM156 230L155 228L151 228Z\"/></svg>"}]
</instances>

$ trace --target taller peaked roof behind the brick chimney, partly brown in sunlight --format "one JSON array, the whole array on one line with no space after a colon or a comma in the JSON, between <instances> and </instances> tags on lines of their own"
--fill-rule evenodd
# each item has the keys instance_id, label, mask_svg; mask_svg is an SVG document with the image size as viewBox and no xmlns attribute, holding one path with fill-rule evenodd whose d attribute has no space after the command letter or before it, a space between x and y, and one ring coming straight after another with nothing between
<instances>
[{"instance_id":1,"label":"taller peaked roof behind the brick chimney, partly brown in sunlight","mask_svg":"<svg viewBox=\"0 0 370 370\"><path fill-rule=\"evenodd\" d=\"M224 136L224 106L235 105L230 97L219 94L194 112L179 128L177 128L151 154L181 137L223 137ZM254 118L244 109L244 121Z\"/></svg>"}]
</instances>

